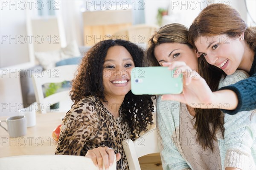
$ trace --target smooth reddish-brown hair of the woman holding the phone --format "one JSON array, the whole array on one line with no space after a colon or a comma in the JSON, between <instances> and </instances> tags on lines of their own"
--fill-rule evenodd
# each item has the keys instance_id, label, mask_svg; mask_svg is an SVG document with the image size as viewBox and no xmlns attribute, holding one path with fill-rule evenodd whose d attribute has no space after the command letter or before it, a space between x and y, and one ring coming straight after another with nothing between
<instances>
[{"instance_id":1,"label":"smooth reddish-brown hair of the woman holding the phone","mask_svg":"<svg viewBox=\"0 0 256 170\"><path fill-rule=\"evenodd\" d=\"M226 34L239 37L244 32L244 40L254 51L256 48L256 27L248 27L236 9L214 3L204 8L189 27L188 39L195 46L199 36Z\"/></svg>"}]
</instances>

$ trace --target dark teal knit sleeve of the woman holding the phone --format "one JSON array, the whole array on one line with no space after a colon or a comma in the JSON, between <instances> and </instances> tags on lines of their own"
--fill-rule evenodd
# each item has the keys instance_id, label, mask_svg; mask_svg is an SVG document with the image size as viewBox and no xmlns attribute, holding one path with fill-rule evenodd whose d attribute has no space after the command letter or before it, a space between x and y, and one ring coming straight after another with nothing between
<instances>
[{"instance_id":1,"label":"dark teal knit sleeve of the woman holding the phone","mask_svg":"<svg viewBox=\"0 0 256 170\"><path fill-rule=\"evenodd\" d=\"M229 86L222 87L220 90L233 90L238 97L238 105L234 110L221 109L224 113L234 115L237 112L256 109L256 73L250 78L246 78Z\"/></svg>"}]
</instances>

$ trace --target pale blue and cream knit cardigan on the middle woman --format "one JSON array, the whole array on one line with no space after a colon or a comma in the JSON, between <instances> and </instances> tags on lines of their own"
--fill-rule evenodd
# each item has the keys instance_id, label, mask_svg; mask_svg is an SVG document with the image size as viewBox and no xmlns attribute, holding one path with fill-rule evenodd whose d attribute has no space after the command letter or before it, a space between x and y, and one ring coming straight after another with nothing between
<instances>
[{"instance_id":1,"label":"pale blue and cream knit cardigan on the middle woman","mask_svg":"<svg viewBox=\"0 0 256 170\"><path fill-rule=\"evenodd\" d=\"M221 79L219 88L234 84L248 74L236 71ZM159 149L164 170L193 169L186 160L179 141L180 103L161 101L157 98L156 126ZM224 138L216 134L221 156L222 169L256 169L256 110L239 112L236 115L224 115Z\"/></svg>"}]
</instances>

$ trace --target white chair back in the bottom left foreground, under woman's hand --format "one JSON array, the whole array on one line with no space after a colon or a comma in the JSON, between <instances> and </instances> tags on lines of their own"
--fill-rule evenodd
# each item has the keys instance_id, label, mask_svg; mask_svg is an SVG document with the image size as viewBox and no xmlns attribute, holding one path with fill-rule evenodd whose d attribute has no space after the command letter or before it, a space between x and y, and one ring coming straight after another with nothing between
<instances>
[{"instance_id":1,"label":"white chair back in the bottom left foreground, under woman's hand","mask_svg":"<svg viewBox=\"0 0 256 170\"><path fill-rule=\"evenodd\" d=\"M0 158L1 170L98 170L90 158L70 155L23 155ZM116 161L109 167L116 170Z\"/></svg>"}]
</instances>

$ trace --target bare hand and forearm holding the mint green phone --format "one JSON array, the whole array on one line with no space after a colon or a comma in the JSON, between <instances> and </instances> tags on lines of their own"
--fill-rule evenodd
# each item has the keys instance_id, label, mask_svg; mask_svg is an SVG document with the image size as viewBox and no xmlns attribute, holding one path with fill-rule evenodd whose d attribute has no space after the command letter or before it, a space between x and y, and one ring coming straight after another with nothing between
<instances>
[{"instance_id":1,"label":"bare hand and forearm holding the mint green phone","mask_svg":"<svg viewBox=\"0 0 256 170\"><path fill-rule=\"evenodd\" d=\"M189 75L195 72L184 62L175 61L172 63L163 63L169 69L177 69L177 75L183 75L183 92L178 95L163 95L163 100L174 100L188 104L193 108L201 109L236 109L238 98L235 92L229 89L212 92L208 84L197 72L195 75Z\"/></svg>"}]
</instances>

